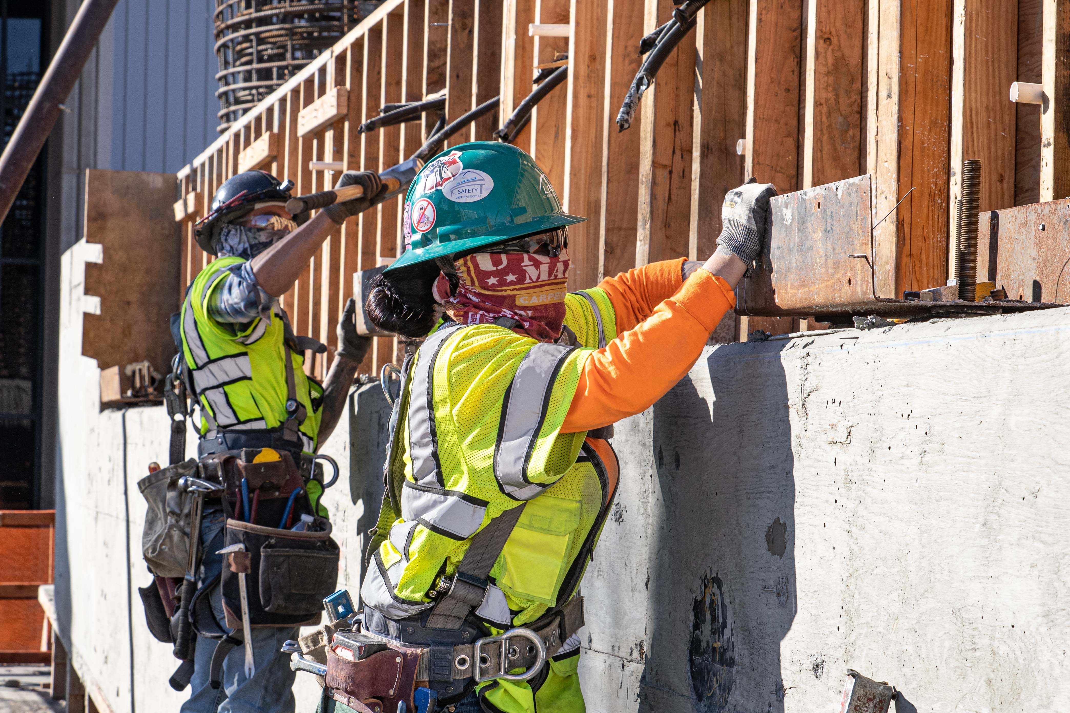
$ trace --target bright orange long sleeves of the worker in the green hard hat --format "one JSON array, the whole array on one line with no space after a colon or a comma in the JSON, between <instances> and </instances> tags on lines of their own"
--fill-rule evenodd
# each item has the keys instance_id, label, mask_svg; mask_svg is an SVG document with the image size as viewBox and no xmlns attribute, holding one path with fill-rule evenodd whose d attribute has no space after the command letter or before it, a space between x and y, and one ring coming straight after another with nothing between
<instances>
[{"instance_id":1,"label":"bright orange long sleeves of the worker in the green hard hat","mask_svg":"<svg viewBox=\"0 0 1070 713\"><path fill-rule=\"evenodd\" d=\"M683 259L666 260L598 285L613 304L617 337L584 363L563 433L641 414L694 366L735 294L704 269L684 282L683 267Z\"/></svg>"}]
</instances>

